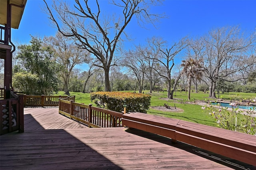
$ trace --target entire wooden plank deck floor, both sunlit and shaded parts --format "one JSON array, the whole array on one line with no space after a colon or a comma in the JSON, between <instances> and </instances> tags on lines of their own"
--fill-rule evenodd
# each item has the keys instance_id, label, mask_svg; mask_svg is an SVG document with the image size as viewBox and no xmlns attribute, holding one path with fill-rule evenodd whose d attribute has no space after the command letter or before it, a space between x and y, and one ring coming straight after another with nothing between
<instances>
[{"instance_id":1,"label":"entire wooden plank deck floor, both sunlit and shaded parts","mask_svg":"<svg viewBox=\"0 0 256 170\"><path fill-rule=\"evenodd\" d=\"M124 127L88 128L58 108L24 108L25 133L0 137L0 169L255 169Z\"/></svg>"}]
</instances>

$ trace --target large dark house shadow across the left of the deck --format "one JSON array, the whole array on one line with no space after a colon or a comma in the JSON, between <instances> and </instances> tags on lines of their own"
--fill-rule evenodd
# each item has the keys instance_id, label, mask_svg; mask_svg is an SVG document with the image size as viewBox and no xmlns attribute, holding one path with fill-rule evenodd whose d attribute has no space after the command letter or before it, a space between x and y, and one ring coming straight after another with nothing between
<instances>
[{"instance_id":1,"label":"large dark house shadow across the left of the deck","mask_svg":"<svg viewBox=\"0 0 256 170\"><path fill-rule=\"evenodd\" d=\"M0 169L122 169L64 129L44 129L30 114L24 120L28 131L1 136Z\"/></svg>"}]
</instances>

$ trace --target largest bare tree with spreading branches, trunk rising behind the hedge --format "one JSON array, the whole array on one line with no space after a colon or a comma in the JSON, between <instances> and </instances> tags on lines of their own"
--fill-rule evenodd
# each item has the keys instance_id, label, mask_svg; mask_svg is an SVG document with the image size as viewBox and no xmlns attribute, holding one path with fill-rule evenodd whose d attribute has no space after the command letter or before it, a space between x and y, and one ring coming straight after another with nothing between
<instances>
[{"instance_id":1,"label":"largest bare tree with spreading branches, trunk rising behind the hedge","mask_svg":"<svg viewBox=\"0 0 256 170\"><path fill-rule=\"evenodd\" d=\"M122 41L122 35L128 37L124 32L128 23L136 17L142 25L144 22L154 24L162 17L150 14L150 7L160 5L160 0L112 0L110 4L119 12L119 17L116 17L116 14L102 14L98 0L75 0L74 8L70 8L63 1L54 1L50 8L46 0L44 2L49 18L58 31L64 36L74 38L78 47L86 49L100 61L97 66L104 70L106 91L111 90L109 70L115 65L114 54L118 43Z\"/></svg>"}]
</instances>

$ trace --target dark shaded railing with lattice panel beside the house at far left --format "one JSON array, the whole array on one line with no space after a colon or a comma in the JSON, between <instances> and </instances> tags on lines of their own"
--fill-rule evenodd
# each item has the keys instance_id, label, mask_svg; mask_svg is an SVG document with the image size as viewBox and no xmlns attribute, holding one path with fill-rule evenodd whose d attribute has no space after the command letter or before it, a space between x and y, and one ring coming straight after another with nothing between
<instances>
[{"instance_id":1,"label":"dark shaded railing with lattice panel beside the house at far left","mask_svg":"<svg viewBox=\"0 0 256 170\"><path fill-rule=\"evenodd\" d=\"M0 135L17 130L24 132L23 95L10 92L10 97L0 100Z\"/></svg>"}]
</instances>

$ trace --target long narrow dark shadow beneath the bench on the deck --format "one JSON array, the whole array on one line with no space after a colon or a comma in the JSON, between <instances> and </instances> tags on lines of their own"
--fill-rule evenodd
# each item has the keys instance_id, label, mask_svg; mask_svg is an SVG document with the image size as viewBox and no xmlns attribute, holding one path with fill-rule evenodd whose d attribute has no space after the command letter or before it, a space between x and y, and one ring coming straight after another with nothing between
<instances>
[{"instance_id":1,"label":"long narrow dark shadow beneath the bench on the deck","mask_svg":"<svg viewBox=\"0 0 256 170\"><path fill-rule=\"evenodd\" d=\"M176 147L178 149L182 149L185 150L187 152L190 152L192 154L196 154L200 157L206 158L208 160L217 162L219 164L222 164L224 166L233 168L235 170L256 170L256 166L252 166L249 164L246 164L244 162L240 162L234 159L230 159L227 158L225 156L219 155L219 154L215 154L213 152L207 151L207 150L203 150L200 149L198 147L194 147L192 145L188 145L186 143L182 143L180 141L178 141L177 143L172 143L171 139L168 137L164 137L161 135L156 135L154 133L149 133L146 131L142 131L142 130L138 130L138 129L133 129L133 128L128 128L126 129L126 132L134 134L134 135L138 135L140 137L144 137L153 141L157 141L159 143L163 143L172 147Z\"/></svg>"}]
</instances>

